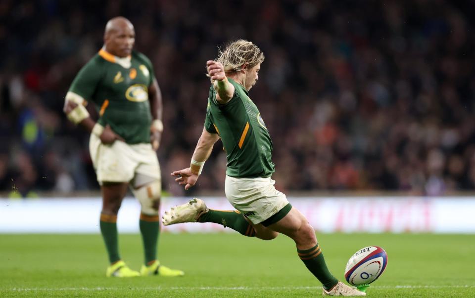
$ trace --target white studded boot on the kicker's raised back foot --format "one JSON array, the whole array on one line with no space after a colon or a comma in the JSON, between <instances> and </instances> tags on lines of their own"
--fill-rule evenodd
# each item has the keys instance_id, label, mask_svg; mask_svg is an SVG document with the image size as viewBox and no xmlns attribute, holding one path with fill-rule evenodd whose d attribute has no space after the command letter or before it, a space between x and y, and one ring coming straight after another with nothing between
<instances>
[{"instance_id":1,"label":"white studded boot on the kicker's raised back foot","mask_svg":"<svg viewBox=\"0 0 475 298\"><path fill-rule=\"evenodd\" d=\"M165 211L162 216L162 223L170 225L181 222L196 222L203 213L209 211L203 200L193 198L188 203L172 207L169 211Z\"/></svg>"}]
</instances>

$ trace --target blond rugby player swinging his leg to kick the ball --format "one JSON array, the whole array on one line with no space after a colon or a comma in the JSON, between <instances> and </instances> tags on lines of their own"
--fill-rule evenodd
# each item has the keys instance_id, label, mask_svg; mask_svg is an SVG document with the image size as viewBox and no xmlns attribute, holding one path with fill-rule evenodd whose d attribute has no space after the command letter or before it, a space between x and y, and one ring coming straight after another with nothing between
<instances>
[{"instance_id":1,"label":"blond rugby player swinging his leg to kick the ball","mask_svg":"<svg viewBox=\"0 0 475 298\"><path fill-rule=\"evenodd\" d=\"M292 207L285 194L276 190L272 141L261 114L249 97L259 78L264 54L255 44L229 43L216 60L206 62L212 80L203 132L191 158L190 168L172 176L185 189L196 183L214 143L221 138L227 153L225 192L237 211L218 211L200 199L165 212L163 223L215 222L242 235L271 240L282 233L295 241L297 254L322 283L323 294L366 296L339 282L325 263L315 230L305 216Z\"/></svg>"}]
</instances>

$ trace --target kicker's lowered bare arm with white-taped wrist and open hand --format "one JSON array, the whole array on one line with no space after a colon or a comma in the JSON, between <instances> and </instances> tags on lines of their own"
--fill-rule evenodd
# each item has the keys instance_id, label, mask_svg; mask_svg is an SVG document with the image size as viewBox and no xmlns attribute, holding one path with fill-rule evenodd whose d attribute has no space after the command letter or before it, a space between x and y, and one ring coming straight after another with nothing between
<instances>
[{"instance_id":1,"label":"kicker's lowered bare arm with white-taped wrist and open hand","mask_svg":"<svg viewBox=\"0 0 475 298\"><path fill-rule=\"evenodd\" d=\"M178 184L185 185L185 190L189 190L191 186L196 183L198 176L201 174L204 162L208 159L213 145L219 140L219 135L216 133L209 133L205 128L201 132L196 148L194 149L193 157L191 158L190 168L183 170L176 170L171 173L172 176L178 177L175 181Z\"/></svg>"}]
</instances>

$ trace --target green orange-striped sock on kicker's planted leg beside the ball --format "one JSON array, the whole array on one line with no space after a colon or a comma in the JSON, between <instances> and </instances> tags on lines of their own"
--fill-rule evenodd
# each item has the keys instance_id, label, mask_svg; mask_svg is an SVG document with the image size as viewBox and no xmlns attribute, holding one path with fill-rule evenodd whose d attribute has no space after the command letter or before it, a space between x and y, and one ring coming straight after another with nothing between
<instances>
[{"instance_id":1,"label":"green orange-striped sock on kicker's planted leg beside the ball","mask_svg":"<svg viewBox=\"0 0 475 298\"><path fill-rule=\"evenodd\" d=\"M318 243L308 250L297 249L297 253L308 270L322 283L325 290L332 289L332 287L338 283L338 280L330 273L330 270L328 270Z\"/></svg>"}]
</instances>

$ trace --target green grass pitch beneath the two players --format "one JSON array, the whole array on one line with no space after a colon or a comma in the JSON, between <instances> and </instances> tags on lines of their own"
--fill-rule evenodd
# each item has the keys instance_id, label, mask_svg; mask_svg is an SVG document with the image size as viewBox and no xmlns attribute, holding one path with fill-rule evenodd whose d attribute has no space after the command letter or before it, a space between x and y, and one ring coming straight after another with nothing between
<instances>
[{"instance_id":1,"label":"green grass pitch beneath the two players","mask_svg":"<svg viewBox=\"0 0 475 298\"><path fill-rule=\"evenodd\" d=\"M368 297L475 297L473 235L317 235L333 274L378 245L388 254ZM140 235L120 235L122 258L139 269ZM318 297L318 281L283 235L272 241L237 233L162 234L163 264L184 277L106 278L100 235L0 235L0 297Z\"/></svg>"}]
</instances>

